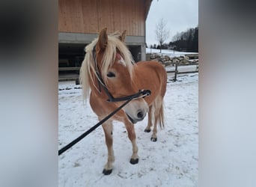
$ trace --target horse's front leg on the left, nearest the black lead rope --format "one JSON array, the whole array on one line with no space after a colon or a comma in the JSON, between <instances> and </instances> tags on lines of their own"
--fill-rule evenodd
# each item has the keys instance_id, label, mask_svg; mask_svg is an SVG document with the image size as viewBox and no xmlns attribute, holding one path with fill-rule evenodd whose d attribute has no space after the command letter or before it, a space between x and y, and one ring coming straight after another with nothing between
<instances>
[{"instance_id":1,"label":"horse's front leg on the left, nearest the black lead rope","mask_svg":"<svg viewBox=\"0 0 256 187\"><path fill-rule=\"evenodd\" d=\"M105 133L106 146L108 148L108 162L106 162L106 165L104 166L103 174L109 175L112 173L113 162L115 161L112 137L113 124L111 120L103 123L103 130Z\"/></svg>"}]
</instances>

